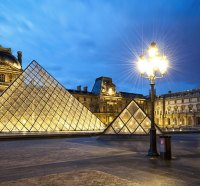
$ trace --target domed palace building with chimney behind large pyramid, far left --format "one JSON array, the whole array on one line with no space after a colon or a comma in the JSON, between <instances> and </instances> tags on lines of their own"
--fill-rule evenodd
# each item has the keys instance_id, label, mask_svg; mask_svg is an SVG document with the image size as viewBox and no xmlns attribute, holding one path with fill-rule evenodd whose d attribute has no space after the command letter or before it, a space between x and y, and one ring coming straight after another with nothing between
<instances>
[{"instance_id":1,"label":"domed palace building with chimney behind large pyramid, far left","mask_svg":"<svg viewBox=\"0 0 200 186\"><path fill-rule=\"evenodd\" d=\"M17 52L17 58L10 48L0 45L0 93L3 92L22 72L22 52Z\"/></svg>"}]
</instances>

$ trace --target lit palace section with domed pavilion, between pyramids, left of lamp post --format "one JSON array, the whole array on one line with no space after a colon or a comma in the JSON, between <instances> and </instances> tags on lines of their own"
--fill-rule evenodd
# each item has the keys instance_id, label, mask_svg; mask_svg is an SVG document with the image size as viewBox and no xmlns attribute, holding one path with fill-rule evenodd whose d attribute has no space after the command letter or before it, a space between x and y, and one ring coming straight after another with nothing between
<instances>
[{"instance_id":1,"label":"lit palace section with domed pavilion, between pyramids, left of lamp post","mask_svg":"<svg viewBox=\"0 0 200 186\"><path fill-rule=\"evenodd\" d=\"M117 92L112 78L99 77L95 80L93 89L88 92L87 87L81 90L68 90L103 123L110 124L119 113L134 99L142 108L145 97L142 94Z\"/></svg>"}]
</instances>

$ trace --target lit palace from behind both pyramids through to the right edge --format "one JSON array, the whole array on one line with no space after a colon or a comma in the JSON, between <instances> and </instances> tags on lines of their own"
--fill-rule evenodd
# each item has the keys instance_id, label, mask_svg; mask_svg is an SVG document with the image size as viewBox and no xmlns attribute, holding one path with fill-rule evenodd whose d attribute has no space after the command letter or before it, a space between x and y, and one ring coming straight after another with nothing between
<instances>
[{"instance_id":1,"label":"lit palace from behind both pyramids through to the right edge","mask_svg":"<svg viewBox=\"0 0 200 186\"><path fill-rule=\"evenodd\" d=\"M119 113L135 100L150 115L150 100L142 94L116 92L112 79L99 77L91 92L87 87L69 90L103 123L110 124ZM200 89L163 94L155 100L155 123L160 128L180 128L200 125Z\"/></svg>"}]
</instances>

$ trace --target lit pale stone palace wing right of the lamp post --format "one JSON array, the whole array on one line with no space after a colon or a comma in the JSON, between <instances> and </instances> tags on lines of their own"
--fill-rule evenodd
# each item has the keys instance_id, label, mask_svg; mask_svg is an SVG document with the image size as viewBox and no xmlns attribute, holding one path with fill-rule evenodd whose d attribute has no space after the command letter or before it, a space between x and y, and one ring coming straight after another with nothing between
<instances>
[{"instance_id":1,"label":"lit pale stone palace wing right of the lamp post","mask_svg":"<svg viewBox=\"0 0 200 186\"><path fill-rule=\"evenodd\" d=\"M200 126L200 89L157 97L155 122L162 128Z\"/></svg>"}]
</instances>

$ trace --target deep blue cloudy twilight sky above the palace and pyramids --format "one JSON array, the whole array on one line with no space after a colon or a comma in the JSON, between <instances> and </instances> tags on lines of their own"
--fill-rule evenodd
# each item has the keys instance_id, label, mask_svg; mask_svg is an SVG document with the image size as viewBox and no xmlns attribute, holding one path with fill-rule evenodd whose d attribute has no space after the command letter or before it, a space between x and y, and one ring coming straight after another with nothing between
<instances>
[{"instance_id":1,"label":"deep blue cloudy twilight sky above the palace and pyramids","mask_svg":"<svg viewBox=\"0 0 200 186\"><path fill-rule=\"evenodd\" d=\"M148 94L134 61L156 41L170 59L158 93L200 88L199 0L0 0L0 44L23 52L66 88L113 78Z\"/></svg>"}]
</instances>

